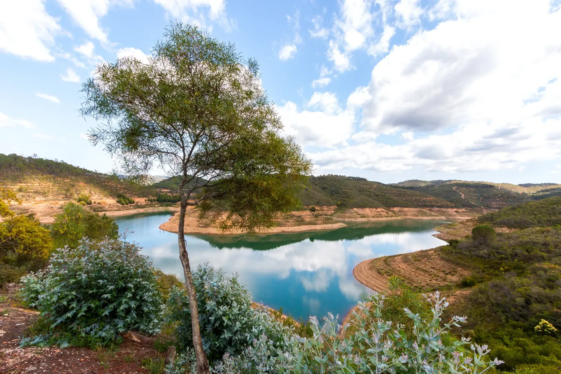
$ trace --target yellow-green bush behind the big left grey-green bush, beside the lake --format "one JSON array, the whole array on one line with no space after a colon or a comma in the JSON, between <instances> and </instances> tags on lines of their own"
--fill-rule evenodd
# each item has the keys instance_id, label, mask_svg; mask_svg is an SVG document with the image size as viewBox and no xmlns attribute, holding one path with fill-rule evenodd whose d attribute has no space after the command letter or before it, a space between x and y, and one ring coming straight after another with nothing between
<instances>
[{"instance_id":1,"label":"yellow-green bush behind the big left grey-green bush, beside the lake","mask_svg":"<svg viewBox=\"0 0 561 374\"><path fill-rule=\"evenodd\" d=\"M117 239L119 227L111 217L105 214L100 216L85 210L81 205L69 202L61 214L54 216L50 233L56 248L76 248L82 238L89 238L91 241L100 241L105 237Z\"/></svg>"}]
</instances>

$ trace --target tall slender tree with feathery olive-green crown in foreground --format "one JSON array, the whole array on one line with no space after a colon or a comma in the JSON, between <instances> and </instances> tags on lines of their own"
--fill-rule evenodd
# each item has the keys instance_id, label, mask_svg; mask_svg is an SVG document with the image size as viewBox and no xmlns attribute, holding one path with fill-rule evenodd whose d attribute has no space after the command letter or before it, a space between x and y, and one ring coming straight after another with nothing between
<instances>
[{"instance_id":1,"label":"tall slender tree with feathery olive-green crown in foreground","mask_svg":"<svg viewBox=\"0 0 561 374\"><path fill-rule=\"evenodd\" d=\"M172 24L148 62L100 64L82 91L82 115L102 122L90 140L103 144L123 173L140 181L157 165L180 179L178 246L197 372L208 373L186 251L187 206L222 230L270 228L300 205L311 161L280 134L255 60L195 26Z\"/></svg>"}]
</instances>

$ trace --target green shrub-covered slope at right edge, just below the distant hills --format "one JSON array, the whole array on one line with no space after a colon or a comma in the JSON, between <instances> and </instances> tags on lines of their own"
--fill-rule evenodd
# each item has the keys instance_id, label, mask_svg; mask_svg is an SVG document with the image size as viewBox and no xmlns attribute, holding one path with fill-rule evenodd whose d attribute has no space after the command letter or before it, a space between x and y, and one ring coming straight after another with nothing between
<instances>
[{"instance_id":1,"label":"green shrub-covered slope at right edge, just below the distant hills","mask_svg":"<svg viewBox=\"0 0 561 374\"><path fill-rule=\"evenodd\" d=\"M549 227L561 224L561 196L526 202L482 215L482 223L512 228Z\"/></svg>"}]
</instances>

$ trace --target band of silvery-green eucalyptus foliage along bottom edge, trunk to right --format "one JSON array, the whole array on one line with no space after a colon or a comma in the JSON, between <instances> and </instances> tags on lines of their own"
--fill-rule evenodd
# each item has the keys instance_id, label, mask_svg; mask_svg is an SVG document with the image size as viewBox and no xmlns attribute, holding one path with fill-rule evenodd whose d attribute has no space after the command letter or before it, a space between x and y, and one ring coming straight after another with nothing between
<instances>
[{"instance_id":1,"label":"band of silvery-green eucalyptus foliage along bottom edge, trunk to right","mask_svg":"<svg viewBox=\"0 0 561 374\"><path fill-rule=\"evenodd\" d=\"M464 317L455 316L442 322L447 307L438 293L429 295L424 307L429 311L421 317L409 310L406 318L412 320L412 329L386 320L385 295L375 293L366 303L359 303L355 312L361 326L352 334L341 334L343 326L337 325L332 315L311 317L312 336L293 335L284 352L274 352L267 336L255 339L240 355L226 354L213 367L214 373L484 373L502 362L488 361L486 345L470 345L469 339L449 339L447 331L459 327ZM194 363L192 353L180 355L181 367L170 365L167 373L180 373Z\"/></svg>"}]
</instances>

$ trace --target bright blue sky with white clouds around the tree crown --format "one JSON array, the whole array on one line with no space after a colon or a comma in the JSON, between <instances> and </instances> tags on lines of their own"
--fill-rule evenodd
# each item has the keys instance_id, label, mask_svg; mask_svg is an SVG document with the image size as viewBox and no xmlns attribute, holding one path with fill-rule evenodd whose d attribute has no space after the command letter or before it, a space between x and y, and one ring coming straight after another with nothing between
<instances>
[{"instance_id":1,"label":"bright blue sky with white clouds around the tree crown","mask_svg":"<svg viewBox=\"0 0 561 374\"><path fill-rule=\"evenodd\" d=\"M0 1L0 153L111 170L81 84L172 21L257 59L316 175L561 182L560 0Z\"/></svg>"}]
</instances>

